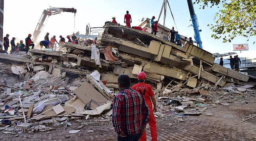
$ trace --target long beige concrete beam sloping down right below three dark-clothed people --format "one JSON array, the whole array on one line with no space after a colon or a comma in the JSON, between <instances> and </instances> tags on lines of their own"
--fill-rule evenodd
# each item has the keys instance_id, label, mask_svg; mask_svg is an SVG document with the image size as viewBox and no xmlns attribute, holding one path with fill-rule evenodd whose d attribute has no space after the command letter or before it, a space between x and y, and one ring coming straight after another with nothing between
<instances>
[{"instance_id":1,"label":"long beige concrete beam sloping down right below three dark-clothed people","mask_svg":"<svg viewBox=\"0 0 256 141\"><path fill-rule=\"evenodd\" d=\"M249 80L248 75L242 74L240 72L233 71L233 70L228 69L226 67L223 67L223 66L221 66L217 63L214 63L213 67L211 67L211 69L215 72L226 75L228 77L236 78L236 79L241 80L241 81L247 82Z\"/></svg>"}]
</instances>

